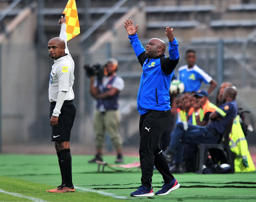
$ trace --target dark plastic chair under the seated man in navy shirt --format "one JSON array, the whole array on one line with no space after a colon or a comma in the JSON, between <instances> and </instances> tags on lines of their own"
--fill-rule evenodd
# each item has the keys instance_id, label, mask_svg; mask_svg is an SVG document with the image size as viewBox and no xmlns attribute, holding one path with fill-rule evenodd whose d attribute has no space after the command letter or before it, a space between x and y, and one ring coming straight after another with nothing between
<instances>
[{"instance_id":1,"label":"dark plastic chair under the seated man in navy shirt","mask_svg":"<svg viewBox=\"0 0 256 202\"><path fill-rule=\"evenodd\" d=\"M232 119L225 129L223 137L220 138L218 144L200 144L198 145L197 150L197 173L203 173L203 165L206 164L208 153L214 155L216 158L216 162L213 163L227 163L230 165L230 173L234 173L234 160L232 156L232 152L229 148L229 134L232 130L234 119ZM217 155L216 155L217 154ZM223 160L224 159L224 160ZM224 162L223 162L224 161Z\"/></svg>"}]
</instances>

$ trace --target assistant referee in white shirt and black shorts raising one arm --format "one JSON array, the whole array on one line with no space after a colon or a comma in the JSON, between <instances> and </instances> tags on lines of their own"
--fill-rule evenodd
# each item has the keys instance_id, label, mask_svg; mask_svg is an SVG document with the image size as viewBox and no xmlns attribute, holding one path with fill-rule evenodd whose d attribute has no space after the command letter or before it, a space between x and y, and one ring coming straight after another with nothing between
<instances>
[{"instance_id":1,"label":"assistant referee in white shirt and black shorts raising one arm","mask_svg":"<svg viewBox=\"0 0 256 202\"><path fill-rule=\"evenodd\" d=\"M76 106L73 101L74 61L67 47L66 17L59 20L61 24L59 37L48 42L49 56L54 59L50 74L49 101L50 125L52 126L52 141L58 156L62 183L56 189L48 192L74 192L72 183L72 158L70 153L70 133L74 123Z\"/></svg>"}]
</instances>

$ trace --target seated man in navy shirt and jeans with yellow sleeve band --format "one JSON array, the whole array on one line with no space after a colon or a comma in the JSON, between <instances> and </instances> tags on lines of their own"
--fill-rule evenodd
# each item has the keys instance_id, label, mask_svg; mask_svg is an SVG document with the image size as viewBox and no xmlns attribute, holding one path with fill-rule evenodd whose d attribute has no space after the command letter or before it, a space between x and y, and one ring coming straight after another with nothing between
<instances>
[{"instance_id":1,"label":"seated man in navy shirt and jeans with yellow sleeve band","mask_svg":"<svg viewBox=\"0 0 256 202\"><path fill-rule=\"evenodd\" d=\"M183 173L184 144L216 144L228 125L237 115L237 90L233 87L225 88L223 99L219 108L210 115L211 122L206 126L192 125L180 122L172 133L171 144L166 155L172 161L176 154L175 169Z\"/></svg>"}]
</instances>

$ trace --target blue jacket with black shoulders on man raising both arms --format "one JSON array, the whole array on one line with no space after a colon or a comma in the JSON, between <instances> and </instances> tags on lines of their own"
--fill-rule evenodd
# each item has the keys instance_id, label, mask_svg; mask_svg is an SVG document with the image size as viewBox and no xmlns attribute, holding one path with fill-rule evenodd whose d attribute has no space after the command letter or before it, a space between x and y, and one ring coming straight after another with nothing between
<instances>
[{"instance_id":1,"label":"blue jacket with black shoulders on man raising both arms","mask_svg":"<svg viewBox=\"0 0 256 202\"><path fill-rule=\"evenodd\" d=\"M170 110L169 88L173 70L179 62L178 42L174 38L169 43L169 55L158 55L150 60L145 55L137 34L129 35L130 43L142 66L140 87L137 96L137 109L140 115L149 110Z\"/></svg>"}]
</instances>

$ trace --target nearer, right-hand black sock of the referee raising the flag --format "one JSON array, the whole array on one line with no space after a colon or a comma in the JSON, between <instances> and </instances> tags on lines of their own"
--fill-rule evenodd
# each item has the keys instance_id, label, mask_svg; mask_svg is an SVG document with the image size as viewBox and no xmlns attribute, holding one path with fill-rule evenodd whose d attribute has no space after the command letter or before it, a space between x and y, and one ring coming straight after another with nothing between
<instances>
[{"instance_id":1,"label":"nearer, right-hand black sock of the referee raising the flag","mask_svg":"<svg viewBox=\"0 0 256 202\"><path fill-rule=\"evenodd\" d=\"M65 186L66 187L72 187L72 158L70 149L63 149L60 150L60 159L61 159L61 165L62 170L65 177Z\"/></svg>"}]
</instances>

